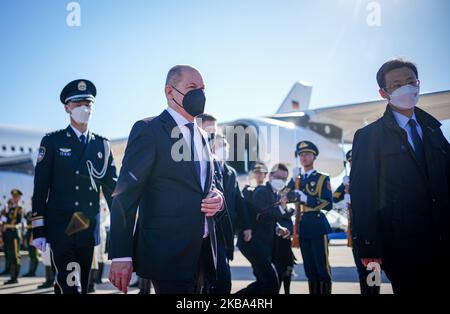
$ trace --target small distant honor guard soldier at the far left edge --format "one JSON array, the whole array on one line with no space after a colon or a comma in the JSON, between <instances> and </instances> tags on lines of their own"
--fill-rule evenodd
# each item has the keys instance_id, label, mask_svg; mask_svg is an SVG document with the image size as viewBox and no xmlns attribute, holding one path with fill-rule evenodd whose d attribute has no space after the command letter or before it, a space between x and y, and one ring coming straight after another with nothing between
<instances>
[{"instance_id":1,"label":"small distant honor guard soldier at the far left edge","mask_svg":"<svg viewBox=\"0 0 450 314\"><path fill-rule=\"evenodd\" d=\"M20 273L20 236L19 225L22 222L23 209L20 206L22 192L17 189L11 191L11 199L8 201L6 219L3 223L3 236L5 239L6 265L9 265L11 279L5 285L18 283Z\"/></svg>"}]
</instances>

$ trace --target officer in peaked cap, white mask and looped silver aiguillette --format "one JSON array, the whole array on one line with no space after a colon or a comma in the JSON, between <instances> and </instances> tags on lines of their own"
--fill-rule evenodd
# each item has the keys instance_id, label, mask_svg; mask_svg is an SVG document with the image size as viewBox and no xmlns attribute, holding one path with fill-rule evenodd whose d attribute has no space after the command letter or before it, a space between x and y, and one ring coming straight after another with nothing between
<instances>
[{"instance_id":1,"label":"officer in peaked cap, white mask and looped silver aiguillette","mask_svg":"<svg viewBox=\"0 0 450 314\"><path fill-rule=\"evenodd\" d=\"M109 141L88 129L94 84L75 80L61 102L70 125L41 142L34 178L33 245L50 243L55 293L87 293L94 246L99 242L100 192L108 205L117 181Z\"/></svg>"}]
</instances>

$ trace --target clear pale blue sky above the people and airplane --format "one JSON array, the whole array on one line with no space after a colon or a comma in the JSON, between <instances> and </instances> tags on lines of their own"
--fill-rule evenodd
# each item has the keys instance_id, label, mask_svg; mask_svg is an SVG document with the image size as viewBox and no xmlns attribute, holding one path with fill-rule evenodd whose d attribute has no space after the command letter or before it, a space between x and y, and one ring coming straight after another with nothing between
<instances>
[{"instance_id":1,"label":"clear pale blue sky above the people and airplane","mask_svg":"<svg viewBox=\"0 0 450 314\"><path fill-rule=\"evenodd\" d=\"M59 93L88 78L92 129L127 136L165 108L180 63L203 73L221 120L274 113L299 80L316 108L377 99L376 71L395 56L418 64L423 92L450 90L448 0L79 0L80 27L67 26L69 2L0 2L0 123L65 127ZM370 2L379 27L367 25Z\"/></svg>"}]
</instances>

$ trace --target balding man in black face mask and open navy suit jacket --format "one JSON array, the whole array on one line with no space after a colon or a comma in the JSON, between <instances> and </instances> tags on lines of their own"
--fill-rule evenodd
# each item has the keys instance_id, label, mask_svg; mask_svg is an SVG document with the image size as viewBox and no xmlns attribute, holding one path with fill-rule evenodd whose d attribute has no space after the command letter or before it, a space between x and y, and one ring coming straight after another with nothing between
<instances>
[{"instance_id":1,"label":"balding man in black face mask and open navy suit jacket","mask_svg":"<svg viewBox=\"0 0 450 314\"><path fill-rule=\"evenodd\" d=\"M201 293L205 279L215 276L213 216L223 195L214 184L207 135L194 123L204 111L204 88L196 69L173 67L167 109L131 130L114 192L109 252L109 278L125 293L133 270L151 279L158 294Z\"/></svg>"}]
</instances>

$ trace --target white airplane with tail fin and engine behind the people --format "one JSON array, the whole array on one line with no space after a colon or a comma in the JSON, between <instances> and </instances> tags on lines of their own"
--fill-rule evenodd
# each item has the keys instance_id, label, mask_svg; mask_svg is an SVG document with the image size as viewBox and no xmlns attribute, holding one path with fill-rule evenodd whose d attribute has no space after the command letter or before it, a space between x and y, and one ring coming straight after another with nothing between
<instances>
[{"instance_id":1,"label":"white airplane with tail fin and engine behind the people","mask_svg":"<svg viewBox=\"0 0 450 314\"><path fill-rule=\"evenodd\" d=\"M237 170L241 184L249 183L248 173L256 161L266 162L269 169L278 162L297 168L294 147L300 140L317 145L320 156L316 168L332 177L333 186L340 184L346 171L344 148L352 143L356 130L383 115L386 100L311 109L311 94L311 84L296 82L275 114L219 124L231 146L228 163ZM438 120L450 119L450 90L422 94L418 107ZM236 130L244 131L243 136L237 136ZM45 133L0 125L0 207L9 198L9 191L19 188L27 208L31 208L34 166ZM126 144L127 138L111 140L118 170ZM337 217L335 225L342 225L343 220Z\"/></svg>"}]
</instances>

